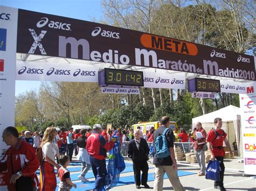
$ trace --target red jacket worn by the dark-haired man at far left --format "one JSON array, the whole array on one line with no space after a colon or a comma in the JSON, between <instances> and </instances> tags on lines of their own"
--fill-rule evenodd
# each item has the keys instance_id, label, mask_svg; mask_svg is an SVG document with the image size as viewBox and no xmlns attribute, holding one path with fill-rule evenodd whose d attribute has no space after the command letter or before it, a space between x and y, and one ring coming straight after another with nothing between
<instances>
[{"instance_id":1,"label":"red jacket worn by the dark-haired man at far left","mask_svg":"<svg viewBox=\"0 0 256 191\"><path fill-rule=\"evenodd\" d=\"M7 171L0 172L0 177L4 176L1 182L2 185L7 185L9 191L15 191L15 185L10 184L10 179L12 174L16 174L21 171L23 176L30 176L33 179L33 185L35 187L38 185L38 179L36 171L39 168L39 161L36 157L36 150L29 143L22 138L15 148L9 147L6 151L2 162L6 162L8 168Z\"/></svg>"}]
</instances>

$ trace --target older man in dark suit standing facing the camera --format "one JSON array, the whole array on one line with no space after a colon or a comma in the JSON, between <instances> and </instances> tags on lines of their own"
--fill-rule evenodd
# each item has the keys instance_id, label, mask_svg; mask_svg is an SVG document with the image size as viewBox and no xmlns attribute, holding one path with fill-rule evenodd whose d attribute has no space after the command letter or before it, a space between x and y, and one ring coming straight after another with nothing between
<instances>
[{"instance_id":1,"label":"older man in dark suit standing facing the camera","mask_svg":"<svg viewBox=\"0 0 256 191\"><path fill-rule=\"evenodd\" d=\"M132 139L129 143L128 156L133 162L134 181L136 188L140 188L140 183L145 188L150 188L147 185L147 174L149 172L149 165L147 164L149 155L149 146L144 138L140 138L140 130L134 131L135 139ZM142 181L140 181L140 171L142 171Z\"/></svg>"}]
</instances>

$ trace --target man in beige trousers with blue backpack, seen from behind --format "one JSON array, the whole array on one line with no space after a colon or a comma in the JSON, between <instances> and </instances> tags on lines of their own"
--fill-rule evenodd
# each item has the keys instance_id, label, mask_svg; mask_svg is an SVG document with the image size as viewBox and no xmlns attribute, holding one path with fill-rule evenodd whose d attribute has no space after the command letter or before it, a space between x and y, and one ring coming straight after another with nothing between
<instances>
[{"instance_id":1,"label":"man in beige trousers with blue backpack, seen from behind","mask_svg":"<svg viewBox=\"0 0 256 191\"><path fill-rule=\"evenodd\" d=\"M154 158L154 190L163 190L164 174L166 173L174 190L185 191L180 183L177 162L174 156L173 131L169 128L170 118L161 118L161 125L153 134ZM163 144L159 144L162 142ZM163 146L162 146L163 145Z\"/></svg>"}]
</instances>

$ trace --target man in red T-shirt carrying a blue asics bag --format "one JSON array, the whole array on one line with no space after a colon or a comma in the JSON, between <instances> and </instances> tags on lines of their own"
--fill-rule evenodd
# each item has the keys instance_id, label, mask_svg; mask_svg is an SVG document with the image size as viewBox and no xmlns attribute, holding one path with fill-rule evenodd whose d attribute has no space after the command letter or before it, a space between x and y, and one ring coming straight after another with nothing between
<instances>
[{"instance_id":1,"label":"man in red T-shirt carrying a blue asics bag","mask_svg":"<svg viewBox=\"0 0 256 191\"><path fill-rule=\"evenodd\" d=\"M217 117L214 119L214 125L215 129L212 129L210 132L208 132L207 135L207 146L208 151L211 153L211 160L219 160L220 161L220 180L214 181L214 188L220 189L221 191L225 191L223 185L223 179L224 179L224 156L225 156L225 150L223 149L223 142L225 142L226 146L228 147L228 150L230 150L231 157L233 156L233 152L231 151L230 143L227 140L227 133L222 127L222 119Z\"/></svg>"}]
</instances>

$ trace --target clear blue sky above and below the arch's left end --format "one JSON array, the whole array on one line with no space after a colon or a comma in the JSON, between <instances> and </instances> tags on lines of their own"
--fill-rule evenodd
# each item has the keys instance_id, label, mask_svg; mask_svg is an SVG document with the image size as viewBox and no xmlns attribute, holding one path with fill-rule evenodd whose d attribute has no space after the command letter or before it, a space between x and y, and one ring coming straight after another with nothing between
<instances>
[{"instance_id":1,"label":"clear blue sky above and below the arch's left end","mask_svg":"<svg viewBox=\"0 0 256 191\"><path fill-rule=\"evenodd\" d=\"M103 17L101 0L0 0L0 5L92 21ZM16 80L15 96L38 90L41 81Z\"/></svg>"}]
</instances>

